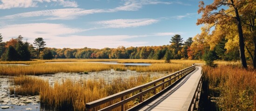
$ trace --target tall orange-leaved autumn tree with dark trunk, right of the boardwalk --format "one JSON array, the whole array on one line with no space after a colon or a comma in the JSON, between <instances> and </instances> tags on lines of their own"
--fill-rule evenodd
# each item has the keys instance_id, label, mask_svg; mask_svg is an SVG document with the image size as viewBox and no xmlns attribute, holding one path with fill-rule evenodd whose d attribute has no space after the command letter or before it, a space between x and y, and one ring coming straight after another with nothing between
<instances>
[{"instance_id":1,"label":"tall orange-leaved autumn tree with dark trunk, right of the boardwalk","mask_svg":"<svg viewBox=\"0 0 256 111\"><path fill-rule=\"evenodd\" d=\"M250 16L252 18L248 18L248 20L251 21L251 24L248 25L251 28L255 28L254 24L252 24L256 15L255 4L255 0L214 0L212 4L204 7L204 2L201 1L198 10L198 13L202 12L202 17L201 19L198 19L197 25L209 24L215 27L220 25L220 28L222 29L221 34L224 35L226 33L225 29L228 29L227 26L232 24L236 25L236 31L238 32L239 37L240 60L243 68L247 68L247 63L245 58L245 43L241 18L246 18L248 14L252 15ZM227 8L223 8L225 6L227 6Z\"/></svg>"}]
</instances>

